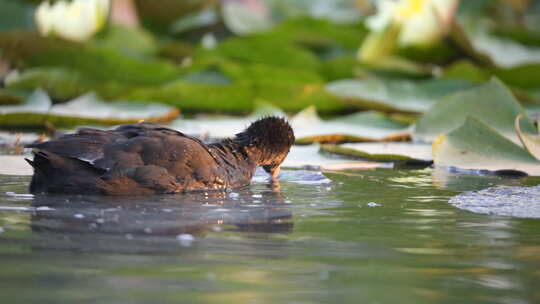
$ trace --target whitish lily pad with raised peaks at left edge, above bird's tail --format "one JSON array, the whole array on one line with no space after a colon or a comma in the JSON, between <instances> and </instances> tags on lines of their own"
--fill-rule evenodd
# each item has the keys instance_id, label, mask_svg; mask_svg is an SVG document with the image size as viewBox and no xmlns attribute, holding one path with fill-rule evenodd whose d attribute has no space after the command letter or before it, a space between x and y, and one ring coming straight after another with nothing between
<instances>
[{"instance_id":1,"label":"whitish lily pad with raised peaks at left edge, above bird's tail","mask_svg":"<svg viewBox=\"0 0 540 304\"><path fill-rule=\"evenodd\" d=\"M176 108L135 101L105 103L94 93L64 104L52 105L43 90L35 91L23 104L0 107L3 127L72 127L80 124L115 125L146 121L169 121L178 116Z\"/></svg>"}]
</instances>

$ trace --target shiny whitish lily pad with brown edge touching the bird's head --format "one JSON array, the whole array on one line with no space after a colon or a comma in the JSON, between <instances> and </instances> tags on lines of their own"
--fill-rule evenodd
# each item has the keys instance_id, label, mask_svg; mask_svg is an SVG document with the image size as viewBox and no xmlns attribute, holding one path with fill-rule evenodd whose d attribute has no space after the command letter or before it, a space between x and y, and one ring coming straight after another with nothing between
<instances>
[{"instance_id":1,"label":"shiny whitish lily pad with brown edge touching the bird's head","mask_svg":"<svg viewBox=\"0 0 540 304\"><path fill-rule=\"evenodd\" d=\"M308 107L290 122L297 144L408 140L411 136L408 125L375 111L322 120L315 107Z\"/></svg>"}]
</instances>

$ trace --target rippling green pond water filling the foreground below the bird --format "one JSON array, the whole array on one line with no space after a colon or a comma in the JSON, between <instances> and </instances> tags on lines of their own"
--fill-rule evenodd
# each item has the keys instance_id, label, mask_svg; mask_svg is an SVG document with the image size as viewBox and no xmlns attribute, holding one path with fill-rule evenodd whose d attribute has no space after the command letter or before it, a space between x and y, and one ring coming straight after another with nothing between
<instances>
[{"instance_id":1,"label":"rippling green pond water filling the foreground below the bird","mask_svg":"<svg viewBox=\"0 0 540 304\"><path fill-rule=\"evenodd\" d=\"M0 176L2 303L539 303L540 220L448 200L536 185L444 170L284 170L244 189L31 196Z\"/></svg>"}]
</instances>

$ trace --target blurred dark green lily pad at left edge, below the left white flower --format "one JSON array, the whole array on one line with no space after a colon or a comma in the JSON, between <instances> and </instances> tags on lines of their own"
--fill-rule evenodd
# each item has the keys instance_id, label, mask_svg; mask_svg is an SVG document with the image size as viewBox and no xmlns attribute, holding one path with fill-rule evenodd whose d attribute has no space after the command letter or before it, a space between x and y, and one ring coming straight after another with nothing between
<instances>
[{"instance_id":1,"label":"blurred dark green lily pad at left edge, below the left white flower","mask_svg":"<svg viewBox=\"0 0 540 304\"><path fill-rule=\"evenodd\" d=\"M64 67L93 79L157 85L177 79L182 70L157 58L138 58L110 46L81 45L32 32L0 32L3 55L18 66Z\"/></svg>"}]
</instances>

